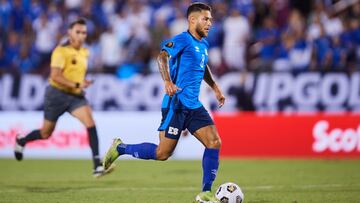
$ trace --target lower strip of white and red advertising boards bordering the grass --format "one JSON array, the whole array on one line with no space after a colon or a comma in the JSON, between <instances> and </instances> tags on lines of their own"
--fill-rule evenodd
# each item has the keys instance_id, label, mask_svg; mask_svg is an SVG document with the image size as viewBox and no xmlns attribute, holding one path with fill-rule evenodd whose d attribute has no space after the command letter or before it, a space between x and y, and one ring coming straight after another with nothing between
<instances>
[{"instance_id":1,"label":"lower strip of white and red advertising boards bordering the grass","mask_svg":"<svg viewBox=\"0 0 360 203\"><path fill-rule=\"evenodd\" d=\"M222 139L221 158L360 158L360 114L215 113L213 117ZM42 112L0 112L0 157L13 158L16 134L39 128L42 118ZM129 144L158 143L160 112L95 112L94 118L101 156L116 137ZM201 159L203 150L193 136L181 136L172 158ZM25 159L90 157L86 129L68 114L60 118L50 139L29 143L25 149Z\"/></svg>"}]
</instances>

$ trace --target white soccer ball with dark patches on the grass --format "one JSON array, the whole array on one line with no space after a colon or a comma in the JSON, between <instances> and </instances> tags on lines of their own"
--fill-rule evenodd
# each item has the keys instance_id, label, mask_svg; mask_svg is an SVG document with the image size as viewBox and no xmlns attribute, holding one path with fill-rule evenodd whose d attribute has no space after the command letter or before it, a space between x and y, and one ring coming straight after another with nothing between
<instances>
[{"instance_id":1,"label":"white soccer ball with dark patches on the grass","mask_svg":"<svg viewBox=\"0 0 360 203\"><path fill-rule=\"evenodd\" d=\"M221 203L242 203L244 201L244 193L235 183L224 183L216 190L215 197Z\"/></svg>"}]
</instances>

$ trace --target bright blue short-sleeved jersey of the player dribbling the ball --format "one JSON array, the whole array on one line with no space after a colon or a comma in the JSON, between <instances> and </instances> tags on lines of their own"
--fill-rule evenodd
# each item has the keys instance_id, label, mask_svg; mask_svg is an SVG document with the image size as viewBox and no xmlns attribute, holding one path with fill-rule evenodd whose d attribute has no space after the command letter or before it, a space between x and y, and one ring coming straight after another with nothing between
<instances>
[{"instance_id":1,"label":"bright blue short-sleeved jersey of the player dribbling the ball","mask_svg":"<svg viewBox=\"0 0 360 203\"><path fill-rule=\"evenodd\" d=\"M183 32L163 43L162 50L169 55L170 77L181 88L175 96L182 106L196 109L202 106L199 101L200 85L208 62L209 44L205 39L198 40L190 32ZM165 95L162 108L168 108L171 99Z\"/></svg>"}]
</instances>

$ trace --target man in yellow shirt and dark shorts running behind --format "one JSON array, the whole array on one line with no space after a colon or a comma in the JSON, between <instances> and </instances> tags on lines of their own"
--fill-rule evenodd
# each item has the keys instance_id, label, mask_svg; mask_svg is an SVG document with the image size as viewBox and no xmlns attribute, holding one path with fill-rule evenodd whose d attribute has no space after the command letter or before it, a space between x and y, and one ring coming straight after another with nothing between
<instances>
[{"instance_id":1,"label":"man in yellow shirt and dark shorts running behind","mask_svg":"<svg viewBox=\"0 0 360 203\"><path fill-rule=\"evenodd\" d=\"M48 139L58 118L69 112L87 128L94 163L93 176L100 177L108 171L104 170L100 162L97 131L91 108L84 96L84 89L93 82L85 79L89 56L89 51L83 47L87 35L86 20L80 18L72 22L67 34L67 42L57 46L51 56L50 85L45 91L43 126L24 137L17 135L15 158L22 160L27 143Z\"/></svg>"}]
</instances>

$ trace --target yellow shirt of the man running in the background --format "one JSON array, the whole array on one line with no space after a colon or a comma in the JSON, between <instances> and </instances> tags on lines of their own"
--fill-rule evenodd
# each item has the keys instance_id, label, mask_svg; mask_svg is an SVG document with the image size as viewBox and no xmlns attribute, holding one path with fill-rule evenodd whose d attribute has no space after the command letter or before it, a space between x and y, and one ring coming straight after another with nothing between
<instances>
[{"instance_id":1,"label":"yellow shirt of the man running in the background","mask_svg":"<svg viewBox=\"0 0 360 203\"><path fill-rule=\"evenodd\" d=\"M63 76L72 81L82 83L85 79L85 74L88 66L89 50L80 48L79 50L71 47L70 45L58 46L55 48L51 55L51 68L62 69ZM51 78L49 83L53 87L71 94L80 94L79 88L69 88L63 86Z\"/></svg>"}]
</instances>

